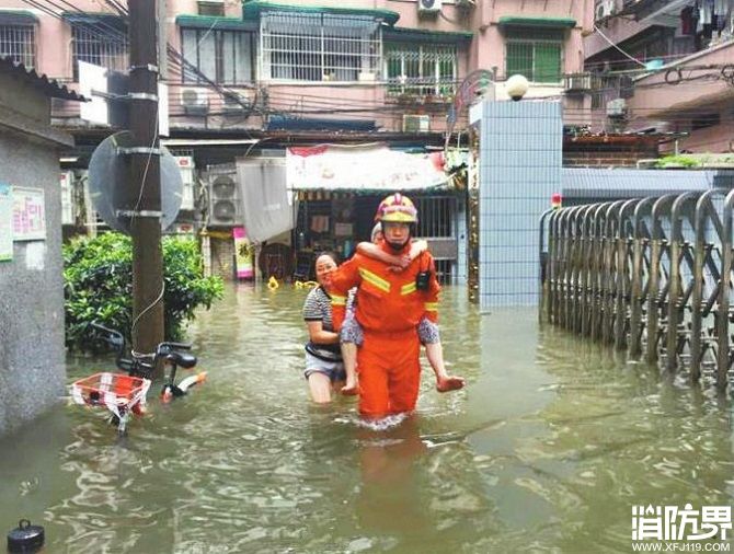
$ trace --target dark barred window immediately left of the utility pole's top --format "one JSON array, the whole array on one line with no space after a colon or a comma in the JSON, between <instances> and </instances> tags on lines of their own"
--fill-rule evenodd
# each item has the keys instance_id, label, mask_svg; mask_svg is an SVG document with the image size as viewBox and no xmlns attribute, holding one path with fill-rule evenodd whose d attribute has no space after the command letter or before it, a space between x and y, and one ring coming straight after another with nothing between
<instances>
[{"instance_id":1,"label":"dark barred window immediately left of the utility pole's top","mask_svg":"<svg viewBox=\"0 0 734 554\"><path fill-rule=\"evenodd\" d=\"M127 71L127 36L124 28L113 33L108 24L98 26L95 24L73 23L71 25L71 36L74 81L79 79L79 61L87 61L116 71Z\"/></svg>"}]
</instances>

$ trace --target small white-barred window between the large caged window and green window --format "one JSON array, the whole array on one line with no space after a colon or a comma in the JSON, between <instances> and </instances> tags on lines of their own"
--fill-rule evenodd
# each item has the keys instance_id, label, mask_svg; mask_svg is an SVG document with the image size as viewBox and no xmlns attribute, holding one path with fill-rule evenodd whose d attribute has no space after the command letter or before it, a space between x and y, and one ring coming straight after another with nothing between
<instances>
[{"instance_id":1,"label":"small white-barred window between the large caged window and green window","mask_svg":"<svg viewBox=\"0 0 734 554\"><path fill-rule=\"evenodd\" d=\"M451 45L387 45L388 94L452 94L457 65L457 50Z\"/></svg>"}]
</instances>

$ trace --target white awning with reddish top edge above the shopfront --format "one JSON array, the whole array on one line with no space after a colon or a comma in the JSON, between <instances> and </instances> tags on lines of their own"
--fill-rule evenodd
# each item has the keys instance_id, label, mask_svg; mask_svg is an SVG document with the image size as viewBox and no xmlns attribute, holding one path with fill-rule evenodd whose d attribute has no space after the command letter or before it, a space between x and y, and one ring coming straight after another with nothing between
<instances>
[{"instance_id":1,"label":"white awning with reddish top edge above the shopfront","mask_svg":"<svg viewBox=\"0 0 734 554\"><path fill-rule=\"evenodd\" d=\"M289 148L288 188L394 192L446 186L443 152L411 154L385 145Z\"/></svg>"}]
</instances>

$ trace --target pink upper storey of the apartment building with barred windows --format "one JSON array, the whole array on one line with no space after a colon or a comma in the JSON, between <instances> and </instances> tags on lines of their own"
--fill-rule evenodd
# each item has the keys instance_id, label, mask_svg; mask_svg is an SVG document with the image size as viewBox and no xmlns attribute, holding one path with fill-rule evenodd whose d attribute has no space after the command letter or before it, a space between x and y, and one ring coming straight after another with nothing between
<instances>
[{"instance_id":1,"label":"pink upper storey of the apartment building with barred windows","mask_svg":"<svg viewBox=\"0 0 734 554\"><path fill-rule=\"evenodd\" d=\"M293 119L309 118L336 120L311 125L324 130L441 132L455 88L475 69L498 81L523 73L529 96L561 97L563 76L583 68L584 3L169 0L172 135L303 130L309 124ZM125 70L122 4L3 0L0 55L70 83L80 60ZM584 99L566 103L576 113ZM58 105L56 115L79 126L74 108Z\"/></svg>"}]
</instances>

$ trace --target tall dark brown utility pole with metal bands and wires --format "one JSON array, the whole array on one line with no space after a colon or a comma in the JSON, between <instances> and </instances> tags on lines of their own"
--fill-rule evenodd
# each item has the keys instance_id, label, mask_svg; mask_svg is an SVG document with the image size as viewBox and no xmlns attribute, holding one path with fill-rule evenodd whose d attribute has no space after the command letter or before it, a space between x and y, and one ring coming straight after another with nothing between
<instances>
[{"instance_id":1,"label":"tall dark brown utility pole with metal bands and wires","mask_svg":"<svg viewBox=\"0 0 734 554\"><path fill-rule=\"evenodd\" d=\"M133 236L133 347L152 353L163 341L160 146L158 142L158 13L154 0L128 0L130 42L129 204Z\"/></svg>"}]
</instances>

